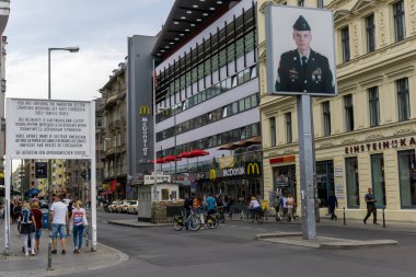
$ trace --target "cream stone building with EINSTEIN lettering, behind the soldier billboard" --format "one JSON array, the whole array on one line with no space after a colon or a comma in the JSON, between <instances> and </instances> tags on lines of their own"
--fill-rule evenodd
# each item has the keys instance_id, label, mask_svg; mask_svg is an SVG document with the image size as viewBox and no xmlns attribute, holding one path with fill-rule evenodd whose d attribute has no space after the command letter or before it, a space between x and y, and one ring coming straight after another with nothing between
<instances>
[{"instance_id":1,"label":"cream stone building with EINSTEIN lettering, behind the soldier billboard","mask_svg":"<svg viewBox=\"0 0 416 277\"><path fill-rule=\"evenodd\" d=\"M257 2L264 193L300 203L297 100L265 94L266 2L334 12L338 95L312 100L321 216L335 192L363 218L372 187L379 217L384 206L388 220L416 221L416 0Z\"/></svg>"}]
</instances>

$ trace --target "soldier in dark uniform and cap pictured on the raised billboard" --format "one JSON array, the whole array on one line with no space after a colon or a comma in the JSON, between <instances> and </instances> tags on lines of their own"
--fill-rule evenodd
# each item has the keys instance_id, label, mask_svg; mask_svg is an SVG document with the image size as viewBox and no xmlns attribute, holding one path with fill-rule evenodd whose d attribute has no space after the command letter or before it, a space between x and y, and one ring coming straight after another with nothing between
<instances>
[{"instance_id":1,"label":"soldier in dark uniform and cap pictured on the raised billboard","mask_svg":"<svg viewBox=\"0 0 416 277\"><path fill-rule=\"evenodd\" d=\"M280 57L276 91L334 93L328 59L311 49L311 27L302 15L293 24L293 41L298 48Z\"/></svg>"}]
</instances>

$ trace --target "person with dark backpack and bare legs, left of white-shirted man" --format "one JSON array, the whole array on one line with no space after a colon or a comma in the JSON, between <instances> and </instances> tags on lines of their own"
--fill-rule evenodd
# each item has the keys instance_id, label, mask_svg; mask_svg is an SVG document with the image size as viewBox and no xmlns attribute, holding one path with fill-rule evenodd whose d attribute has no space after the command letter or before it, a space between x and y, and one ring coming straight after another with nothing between
<instances>
[{"instance_id":1,"label":"person with dark backpack and bare legs, left of white-shirted man","mask_svg":"<svg viewBox=\"0 0 416 277\"><path fill-rule=\"evenodd\" d=\"M28 203L24 203L22 206L21 215L19 216L18 222L20 223L20 232L22 238L22 243L24 247L24 255L28 256L28 246L27 246L27 240L31 240L32 245L32 256L34 256L35 253L35 217L33 216L33 212L31 211Z\"/></svg>"}]
</instances>

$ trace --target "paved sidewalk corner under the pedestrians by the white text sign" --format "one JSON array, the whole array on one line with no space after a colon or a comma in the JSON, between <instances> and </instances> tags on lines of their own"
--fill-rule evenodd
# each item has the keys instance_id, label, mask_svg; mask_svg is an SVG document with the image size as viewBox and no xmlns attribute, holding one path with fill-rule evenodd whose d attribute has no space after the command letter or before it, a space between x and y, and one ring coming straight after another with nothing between
<instances>
[{"instance_id":1,"label":"paved sidewalk corner under the pedestrians by the white text sign","mask_svg":"<svg viewBox=\"0 0 416 277\"><path fill-rule=\"evenodd\" d=\"M58 254L51 256L51 265L54 270L46 270L48 262L48 230L44 229L41 238L39 253L36 256L24 256L22 253L22 242L18 233L16 224L11 226L10 233L10 255L0 254L0 276L2 277L21 277L21 276L57 276L63 274L77 274L92 269L114 266L129 259L128 255L115 249L97 244L96 252L91 252L85 246L83 240L83 249L80 254L73 254L73 239L67 238L67 254L60 254L61 247L58 240ZM4 224L0 226L0 247L4 245Z\"/></svg>"}]
</instances>

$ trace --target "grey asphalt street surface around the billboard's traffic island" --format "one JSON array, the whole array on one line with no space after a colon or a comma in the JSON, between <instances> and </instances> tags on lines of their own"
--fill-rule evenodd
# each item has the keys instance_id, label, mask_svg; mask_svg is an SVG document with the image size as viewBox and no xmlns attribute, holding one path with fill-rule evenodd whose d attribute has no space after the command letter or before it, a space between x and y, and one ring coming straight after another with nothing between
<instances>
[{"instance_id":1,"label":"grey asphalt street surface around the billboard's traffic island","mask_svg":"<svg viewBox=\"0 0 416 277\"><path fill-rule=\"evenodd\" d=\"M317 226L320 236L398 241L396 246L328 251L254 239L264 232L301 231L297 223L258 226L230 221L216 230L177 232L171 227L139 229L106 223L135 218L131 215L99 211L97 216L99 242L123 251L130 261L77 276L416 276L416 232Z\"/></svg>"}]
</instances>

